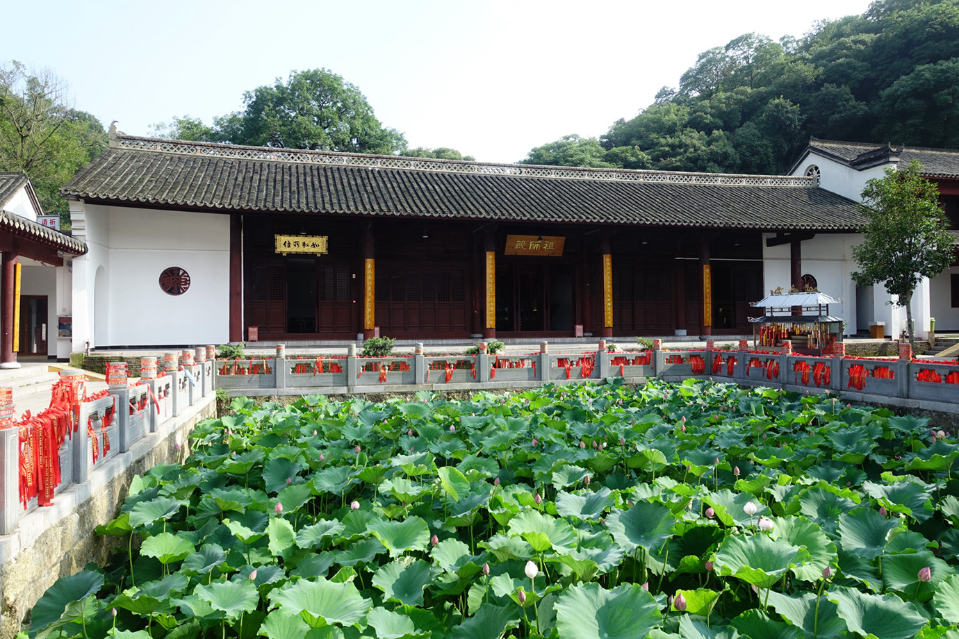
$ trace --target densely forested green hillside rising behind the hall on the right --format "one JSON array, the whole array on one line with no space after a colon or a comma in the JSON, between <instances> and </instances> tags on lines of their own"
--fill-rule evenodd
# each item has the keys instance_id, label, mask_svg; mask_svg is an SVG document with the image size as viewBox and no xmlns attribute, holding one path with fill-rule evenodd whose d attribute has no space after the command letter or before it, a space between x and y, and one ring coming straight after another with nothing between
<instances>
[{"instance_id":1,"label":"densely forested green hillside rising behind the hall on the right","mask_svg":"<svg viewBox=\"0 0 959 639\"><path fill-rule=\"evenodd\" d=\"M810 135L959 148L959 0L881 0L798 40L740 35L635 118L524 162L782 173Z\"/></svg>"}]
</instances>

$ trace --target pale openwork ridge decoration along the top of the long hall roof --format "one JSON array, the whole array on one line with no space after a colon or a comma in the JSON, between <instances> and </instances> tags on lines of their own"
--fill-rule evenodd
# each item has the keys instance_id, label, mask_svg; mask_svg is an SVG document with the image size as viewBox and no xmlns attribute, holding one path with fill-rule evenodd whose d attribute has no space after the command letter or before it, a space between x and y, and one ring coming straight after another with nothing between
<instances>
[{"instance_id":1,"label":"pale openwork ridge decoration along the top of the long hall roof","mask_svg":"<svg viewBox=\"0 0 959 639\"><path fill-rule=\"evenodd\" d=\"M805 175L747 175L732 173L695 173L683 171L643 171L630 169L591 169L586 167L551 167L532 164L498 164L468 162L465 160L437 160L403 157L400 155L372 155L292 148L245 147L213 142L190 142L161 138L142 138L117 135L110 140L113 148L128 148L181 155L295 162L299 164L333 165L339 167L401 169L449 173L478 173L516 177L547 177L560 179L604 180L621 182L667 182L674 184L712 184L730 186L774 186L815 188L811 177Z\"/></svg>"}]
</instances>

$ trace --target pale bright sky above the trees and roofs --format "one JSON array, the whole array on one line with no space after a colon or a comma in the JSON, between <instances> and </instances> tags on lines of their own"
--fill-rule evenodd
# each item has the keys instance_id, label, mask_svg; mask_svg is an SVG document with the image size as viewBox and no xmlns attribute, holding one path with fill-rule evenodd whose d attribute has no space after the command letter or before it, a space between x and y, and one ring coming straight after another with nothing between
<instances>
[{"instance_id":1,"label":"pale bright sky above the trees and roofs","mask_svg":"<svg viewBox=\"0 0 959 639\"><path fill-rule=\"evenodd\" d=\"M325 68L356 85L410 148L516 162L598 137L653 102L707 49L779 40L869 0L166 0L19 2L0 62L49 69L72 105L130 135L240 110L243 93Z\"/></svg>"}]
</instances>

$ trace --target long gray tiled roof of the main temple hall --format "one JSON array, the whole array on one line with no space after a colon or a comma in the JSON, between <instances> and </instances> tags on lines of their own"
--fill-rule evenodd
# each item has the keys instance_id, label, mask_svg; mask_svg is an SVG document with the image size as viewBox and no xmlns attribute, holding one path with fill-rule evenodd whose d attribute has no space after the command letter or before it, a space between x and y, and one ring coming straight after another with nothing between
<instances>
[{"instance_id":1,"label":"long gray tiled roof of the main temple hall","mask_svg":"<svg viewBox=\"0 0 959 639\"><path fill-rule=\"evenodd\" d=\"M852 230L853 201L807 178L605 171L120 136L60 191L214 211Z\"/></svg>"}]
</instances>

